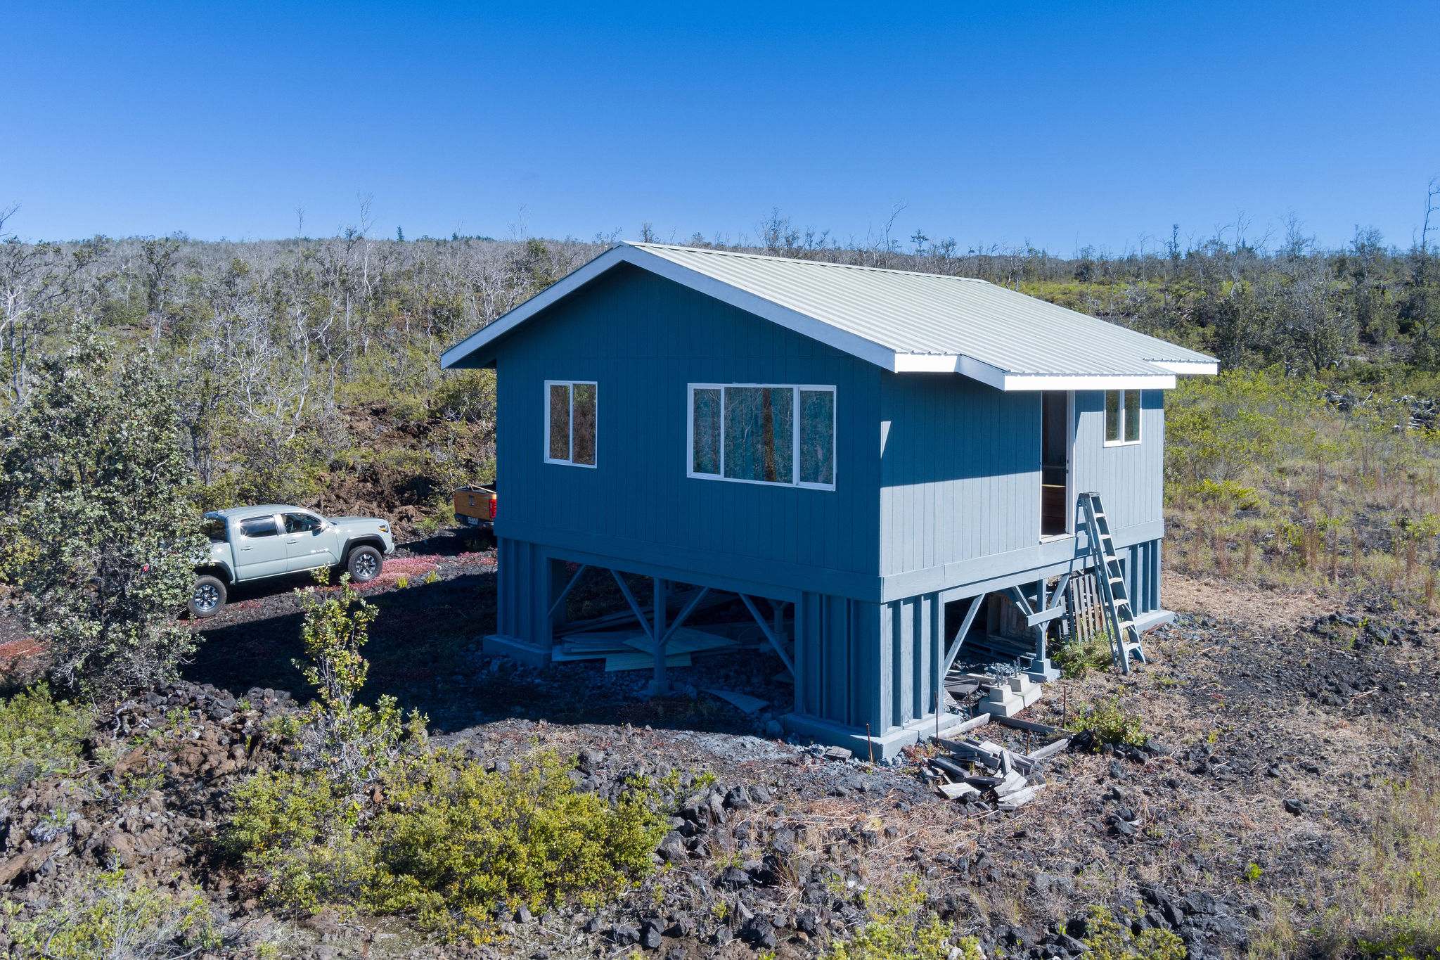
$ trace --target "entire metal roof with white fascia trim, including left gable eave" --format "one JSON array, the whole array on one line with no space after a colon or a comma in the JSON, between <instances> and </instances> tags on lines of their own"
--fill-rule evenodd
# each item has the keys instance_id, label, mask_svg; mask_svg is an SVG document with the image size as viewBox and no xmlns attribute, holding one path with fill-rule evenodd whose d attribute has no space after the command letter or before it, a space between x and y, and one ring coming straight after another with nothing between
<instances>
[{"instance_id":1,"label":"entire metal roof with white fascia trim, including left gable eave","mask_svg":"<svg viewBox=\"0 0 1440 960\"><path fill-rule=\"evenodd\" d=\"M664 243L621 243L451 347L477 351L619 263L684 284L897 373L956 371L1001 390L1172 387L1214 357L986 281Z\"/></svg>"}]
</instances>

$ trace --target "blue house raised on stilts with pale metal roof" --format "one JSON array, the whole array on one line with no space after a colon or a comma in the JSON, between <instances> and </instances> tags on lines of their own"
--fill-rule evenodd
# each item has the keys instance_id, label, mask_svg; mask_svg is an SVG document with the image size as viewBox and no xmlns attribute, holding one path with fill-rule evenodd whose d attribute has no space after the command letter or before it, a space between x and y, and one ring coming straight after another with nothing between
<instances>
[{"instance_id":1,"label":"blue house raised on stilts with pale metal roof","mask_svg":"<svg viewBox=\"0 0 1440 960\"><path fill-rule=\"evenodd\" d=\"M566 564L734 593L793 674L785 727L887 757L958 720L943 678L996 616L1053 679L1073 577L1115 590L1122 636L1169 617L1164 391L1217 368L985 281L657 243L442 366L497 371L488 651L550 661ZM629 599L661 640L694 606Z\"/></svg>"}]
</instances>

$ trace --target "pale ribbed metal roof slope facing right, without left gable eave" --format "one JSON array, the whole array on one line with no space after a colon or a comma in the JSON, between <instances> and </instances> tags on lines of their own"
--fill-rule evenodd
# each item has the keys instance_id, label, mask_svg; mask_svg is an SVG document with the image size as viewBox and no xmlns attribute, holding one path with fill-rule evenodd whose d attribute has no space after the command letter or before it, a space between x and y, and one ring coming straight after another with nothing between
<instances>
[{"instance_id":1,"label":"pale ribbed metal roof slope facing right, without left gable eave","mask_svg":"<svg viewBox=\"0 0 1440 960\"><path fill-rule=\"evenodd\" d=\"M638 249L897 354L963 356L1012 374L1155 374L1214 357L986 281L661 243Z\"/></svg>"}]
</instances>

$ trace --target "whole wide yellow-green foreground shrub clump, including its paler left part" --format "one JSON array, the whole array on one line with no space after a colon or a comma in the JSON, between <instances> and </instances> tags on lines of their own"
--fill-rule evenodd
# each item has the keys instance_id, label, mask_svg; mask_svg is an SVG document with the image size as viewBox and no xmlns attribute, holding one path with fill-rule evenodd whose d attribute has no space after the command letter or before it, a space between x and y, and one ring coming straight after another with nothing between
<instances>
[{"instance_id":1,"label":"whole wide yellow-green foreground shrub clump, including its paler left part","mask_svg":"<svg viewBox=\"0 0 1440 960\"><path fill-rule=\"evenodd\" d=\"M576 793L553 753L485 773L438 751L396 764L384 810L318 771L252 777L229 841L285 910L324 904L405 913L478 938L500 902L596 904L649 874L667 829L651 797Z\"/></svg>"}]
</instances>

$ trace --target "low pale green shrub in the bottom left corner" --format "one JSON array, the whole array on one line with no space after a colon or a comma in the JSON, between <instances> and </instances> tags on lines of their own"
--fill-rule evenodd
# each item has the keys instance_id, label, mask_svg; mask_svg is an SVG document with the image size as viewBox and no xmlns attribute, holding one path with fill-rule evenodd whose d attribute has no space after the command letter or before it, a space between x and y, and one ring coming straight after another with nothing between
<instances>
[{"instance_id":1,"label":"low pale green shrub in the bottom left corner","mask_svg":"<svg viewBox=\"0 0 1440 960\"><path fill-rule=\"evenodd\" d=\"M84 900L71 898L35 920L6 923L19 956L46 960L180 960L222 946L200 894L171 897L132 882L124 871L99 875ZM9 913L9 911L7 911Z\"/></svg>"}]
</instances>

